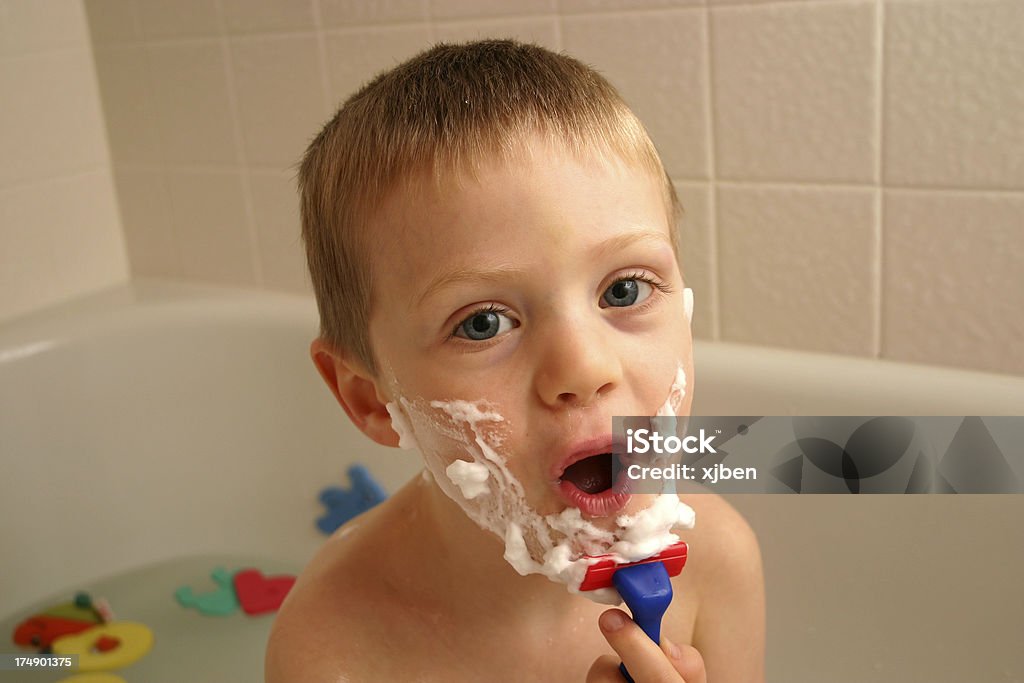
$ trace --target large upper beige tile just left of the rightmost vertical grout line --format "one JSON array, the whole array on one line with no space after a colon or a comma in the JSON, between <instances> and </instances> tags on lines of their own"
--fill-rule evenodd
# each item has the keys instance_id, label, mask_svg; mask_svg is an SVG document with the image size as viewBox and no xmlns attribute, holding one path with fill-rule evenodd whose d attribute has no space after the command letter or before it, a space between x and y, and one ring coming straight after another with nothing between
<instances>
[{"instance_id":1,"label":"large upper beige tile just left of the rightmost vertical grout line","mask_svg":"<svg viewBox=\"0 0 1024 683\"><path fill-rule=\"evenodd\" d=\"M873 2L712 10L718 177L873 180L874 12Z\"/></svg>"}]
</instances>

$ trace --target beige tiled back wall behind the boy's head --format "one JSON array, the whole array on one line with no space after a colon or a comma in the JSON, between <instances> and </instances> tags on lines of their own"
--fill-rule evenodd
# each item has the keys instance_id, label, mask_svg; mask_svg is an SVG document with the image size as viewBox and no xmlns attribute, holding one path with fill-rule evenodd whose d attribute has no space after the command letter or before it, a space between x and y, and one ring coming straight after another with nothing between
<instances>
[{"instance_id":1,"label":"beige tiled back wall behind the boy's head","mask_svg":"<svg viewBox=\"0 0 1024 683\"><path fill-rule=\"evenodd\" d=\"M595 65L677 181L699 336L1024 374L1020 0L86 0L134 273L308 291L293 165L437 40Z\"/></svg>"}]
</instances>

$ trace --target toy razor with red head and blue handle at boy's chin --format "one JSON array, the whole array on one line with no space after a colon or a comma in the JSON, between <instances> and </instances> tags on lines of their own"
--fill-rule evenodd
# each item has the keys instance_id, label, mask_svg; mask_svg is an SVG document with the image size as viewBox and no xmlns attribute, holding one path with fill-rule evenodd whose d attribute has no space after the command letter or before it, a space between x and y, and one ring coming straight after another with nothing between
<instances>
[{"instance_id":1,"label":"toy razor with red head and blue handle at boy's chin","mask_svg":"<svg viewBox=\"0 0 1024 683\"><path fill-rule=\"evenodd\" d=\"M662 643L662 617L672 602L672 582L686 564L688 547L685 543L675 543L657 555L645 560L615 564L610 558L602 559L587 567L581 591L615 587L626 605L633 613L633 621L655 643ZM625 665L618 670L627 681L633 678Z\"/></svg>"}]
</instances>

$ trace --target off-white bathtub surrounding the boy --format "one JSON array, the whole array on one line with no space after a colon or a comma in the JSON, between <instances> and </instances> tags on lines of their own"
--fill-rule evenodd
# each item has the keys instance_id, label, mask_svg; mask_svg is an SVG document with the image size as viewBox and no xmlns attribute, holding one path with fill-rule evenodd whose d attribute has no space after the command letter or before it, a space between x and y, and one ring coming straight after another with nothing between
<instances>
[{"instance_id":1,"label":"off-white bathtub surrounding the boy","mask_svg":"<svg viewBox=\"0 0 1024 683\"><path fill-rule=\"evenodd\" d=\"M155 281L0 326L0 616L125 572L298 570L350 464L415 476L348 423L315 333L308 298ZM695 368L703 415L1024 414L1022 378L702 342ZM730 500L762 544L769 680L1024 680L1024 496Z\"/></svg>"}]
</instances>

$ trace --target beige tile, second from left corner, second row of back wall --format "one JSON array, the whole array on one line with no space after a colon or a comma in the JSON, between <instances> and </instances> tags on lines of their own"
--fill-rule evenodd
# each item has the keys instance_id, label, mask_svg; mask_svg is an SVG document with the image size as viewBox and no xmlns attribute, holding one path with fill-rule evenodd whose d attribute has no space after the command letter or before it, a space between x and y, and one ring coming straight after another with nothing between
<instances>
[{"instance_id":1,"label":"beige tile, second from left corner, second row of back wall","mask_svg":"<svg viewBox=\"0 0 1024 683\"><path fill-rule=\"evenodd\" d=\"M151 93L163 159L178 164L238 161L219 41L150 46Z\"/></svg>"}]
</instances>

